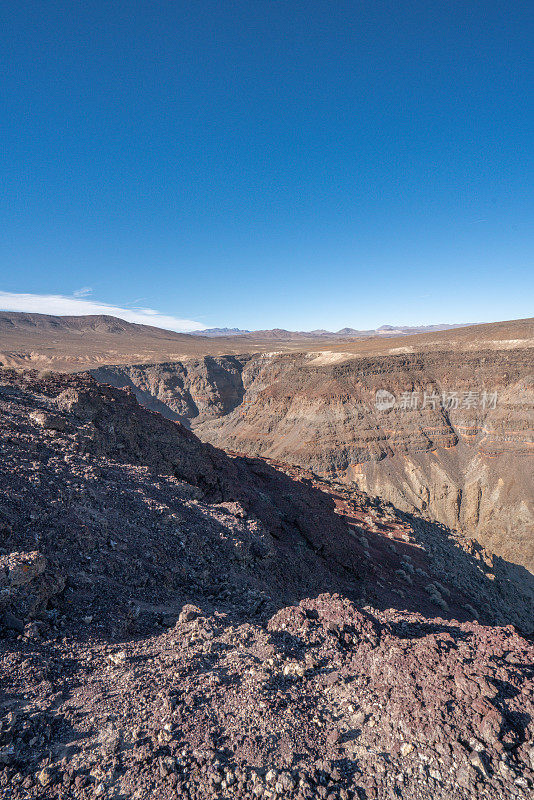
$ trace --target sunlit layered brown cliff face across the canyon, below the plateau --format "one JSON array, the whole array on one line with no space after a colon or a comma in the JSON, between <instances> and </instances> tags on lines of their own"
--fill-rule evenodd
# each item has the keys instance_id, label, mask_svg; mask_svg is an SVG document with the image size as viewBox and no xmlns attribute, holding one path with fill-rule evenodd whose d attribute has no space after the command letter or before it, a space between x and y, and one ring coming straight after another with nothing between
<instances>
[{"instance_id":1,"label":"sunlit layered brown cliff face across the canyon, below the plateau","mask_svg":"<svg viewBox=\"0 0 534 800\"><path fill-rule=\"evenodd\" d=\"M212 444L354 482L534 571L532 364L531 348L270 353L93 374Z\"/></svg>"}]
</instances>

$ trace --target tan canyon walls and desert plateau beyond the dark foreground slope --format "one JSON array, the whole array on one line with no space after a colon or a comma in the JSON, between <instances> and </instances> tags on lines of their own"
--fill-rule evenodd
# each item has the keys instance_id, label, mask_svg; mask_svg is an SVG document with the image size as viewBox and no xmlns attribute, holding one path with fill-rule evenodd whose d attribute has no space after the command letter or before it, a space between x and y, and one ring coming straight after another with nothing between
<instances>
[{"instance_id":1,"label":"tan canyon walls and desert plateau beyond the dark foreground slope","mask_svg":"<svg viewBox=\"0 0 534 800\"><path fill-rule=\"evenodd\" d=\"M533 571L533 320L389 327L210 337L2 312L0 362L89 369L207 442L344 481Z\"/></svg>"}]
</instances>

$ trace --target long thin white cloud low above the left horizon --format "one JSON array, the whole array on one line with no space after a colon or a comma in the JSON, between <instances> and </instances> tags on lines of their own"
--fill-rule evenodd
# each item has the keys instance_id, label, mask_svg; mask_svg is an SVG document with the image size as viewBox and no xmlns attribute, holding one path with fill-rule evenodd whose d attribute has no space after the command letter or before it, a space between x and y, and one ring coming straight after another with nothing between
<instances>
[{"instance_id":1,"label":"long thin white cloud low above the left horizon","mask_svg":"<svg viewBox=\"0 0 534 800\"><path fill-rule=\"evenodd\" d=\"M88 287L86 287L88 288ZM96 300L81 297L68 297L62 294L23 294L0 291L0 309L3 311L27 311L33 314L53 314L56 316L79 316L83 314L106 314L120 317L127 322L141 325L154 325L170 331L187 333L201 331L206 325L191 319L179 319L160 314L153 308L121 308Z\"/></svg>"}]
</instances>

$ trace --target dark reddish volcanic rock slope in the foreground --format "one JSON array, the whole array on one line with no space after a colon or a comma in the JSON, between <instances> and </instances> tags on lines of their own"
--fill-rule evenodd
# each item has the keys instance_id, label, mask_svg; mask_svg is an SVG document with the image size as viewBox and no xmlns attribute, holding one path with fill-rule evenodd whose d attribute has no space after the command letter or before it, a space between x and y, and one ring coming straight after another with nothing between
<instances>
[{"instance_id":1,"label":"dark reddish volcanic rock slope in the foreground","mask_svg":"<svg viewBox=\"0 0 534 800\"><path fill-rule=\"evenodd\" d=\"M1 797L531 796L517 568L87 375L0 419Z\"/></svg>"}]
</instances>

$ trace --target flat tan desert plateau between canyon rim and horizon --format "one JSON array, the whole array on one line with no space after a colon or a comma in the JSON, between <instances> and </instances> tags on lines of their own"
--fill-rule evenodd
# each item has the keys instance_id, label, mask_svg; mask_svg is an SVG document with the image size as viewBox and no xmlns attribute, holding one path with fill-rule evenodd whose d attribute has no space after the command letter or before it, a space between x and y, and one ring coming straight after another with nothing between
<instances>
[{"instance_id":1,"label":"flat tan desert plateau between canyon rim and horizon","mask_svg":"<svg viewBox=\"0 0 534 800\"><path fill-rule=\"evenodd\" d=\"M268 334L268 335L266 335ZM328 340L288 331L258 331L238 336L188 335L136 325L116 317L53 317L0 312L0 365L76 372L107 364L181 361L205 355L309 352L326 350L355 355L410 353L421 350L480 350L532 347L533 320L513 320L414 336L339 337ZM400 348L400 349L399 349Z\"/></svg>"}]
</instances>

